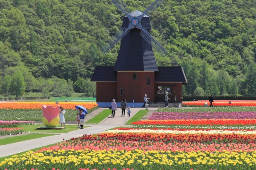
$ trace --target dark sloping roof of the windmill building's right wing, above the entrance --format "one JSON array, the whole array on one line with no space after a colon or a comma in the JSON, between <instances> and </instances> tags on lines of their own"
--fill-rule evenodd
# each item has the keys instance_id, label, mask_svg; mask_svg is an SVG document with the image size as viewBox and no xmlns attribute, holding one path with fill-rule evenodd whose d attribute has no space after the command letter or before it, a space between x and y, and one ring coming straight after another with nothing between
<instances>
[{"instance_id":1,"label":"dark sloping roof of the windmill building's right wing, above the entrance","mask_svg":"<svg viewBox=\"0 0 256 170\"><path fill-rule=\"evenodd\" d=\"M158 67L158 70L155 82L188 82L182 67Z\"/></svg>"}]
</instances>

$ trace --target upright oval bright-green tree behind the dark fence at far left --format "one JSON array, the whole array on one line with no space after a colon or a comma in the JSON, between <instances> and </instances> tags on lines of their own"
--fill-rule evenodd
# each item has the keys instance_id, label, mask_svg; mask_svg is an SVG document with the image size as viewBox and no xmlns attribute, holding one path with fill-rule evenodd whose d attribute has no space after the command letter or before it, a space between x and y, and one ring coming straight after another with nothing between
<instances>
[{"instance_id":1,"label":"upright oval bright-green tree behind the dark fence at far left","mask_svg":"<svg viewBox=\"0 0 256 170\"><path fill-rule=\"evenodd\" d=\"M26 90L24 77L20 71L14 72L11 77L10 93L16 97L23 96Z\"/></svg>"}]
</instances>

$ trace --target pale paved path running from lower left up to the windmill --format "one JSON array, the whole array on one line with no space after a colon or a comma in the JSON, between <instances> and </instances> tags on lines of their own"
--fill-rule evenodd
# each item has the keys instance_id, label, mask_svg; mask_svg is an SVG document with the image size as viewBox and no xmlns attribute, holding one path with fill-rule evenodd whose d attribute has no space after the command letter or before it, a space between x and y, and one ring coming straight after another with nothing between
<instances>
[{"instance_id":1,"label":"pale paved path running from lower left up to the windmill","mask_svg":"<svg viewBox=\"0 0 256 170\"><path fill-rule=\"evenodd\" d=\"M122 110L118 109L116 111L115 117L111 118L106 117L102 122L99 124L85 124L84 126L90 126L84 129L77 129L72 132L48 136L38 139L26 140L22 142L17 142L14 144L7 144L0 146L0 157L9 156L12 154L17 154L20 152L24 152L27 150L32 150L35 148L40 148L46 145L55 144L57 142L62 142L64 140L68 140L70 138L76 138L82 136L83 134L97 134L100 132L104 132L105 130L115 128L118 126L130 126L125 125L125 123L132 118L132 116L137 113L142 108L131 108L132 113L130 117L127 117L127 110L126 110L126 117L121 117ZM156 110L157 108L150 108L150 110ZM110 111L111 112L111 111Z\"/></svg>"}]
</instances>

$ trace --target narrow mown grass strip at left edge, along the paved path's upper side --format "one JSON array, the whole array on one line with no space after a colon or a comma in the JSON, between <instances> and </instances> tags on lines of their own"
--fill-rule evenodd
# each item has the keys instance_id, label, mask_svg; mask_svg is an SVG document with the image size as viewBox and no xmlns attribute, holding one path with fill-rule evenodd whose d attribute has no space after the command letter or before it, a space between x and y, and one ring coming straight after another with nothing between
<instances>
[{"instance_id":1,"label":"narrow mown grass strip at left edge, along the paved path's upper side","mask_svg":"<svg viewBox=\"0 0 256 170\"><path fill-rule=\"evenodd\" d=\"M24 134L24 135L19 135L19 136L12 136L12 137L7 137L7 138L4 138L4 139L0 139L0 145L12 144L12 143L16 143L16 142L25 141L25 140L42 138L42 137L53 136L53 135L56 135L56 134L45 134L45 133L44 134L42 134L42 133L34 134L34 133L30 133L30 134Z\"/></svg>"}]
</instances>

